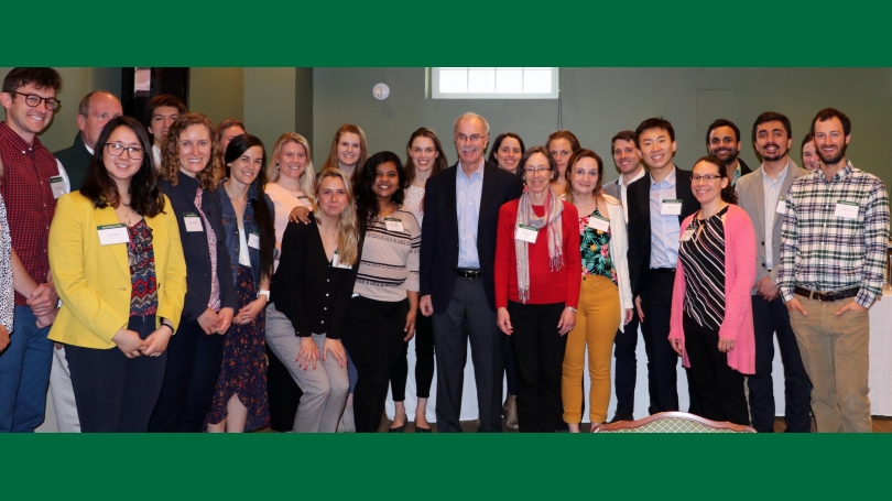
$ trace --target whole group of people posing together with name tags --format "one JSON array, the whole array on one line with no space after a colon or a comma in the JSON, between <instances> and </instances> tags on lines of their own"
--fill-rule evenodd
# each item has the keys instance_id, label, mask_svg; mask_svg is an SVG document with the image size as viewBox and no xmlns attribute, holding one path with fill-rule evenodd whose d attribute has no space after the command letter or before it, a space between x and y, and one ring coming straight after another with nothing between
<instances>
[{"instance_id":1,"label":"whole group of people posing together with name tags","mask_svg":"<svg viewBox=\"0 0 892 501\"><path fill-rule=\"evenodd\" d=\"M268 156L167 95L143 124L88 94L54 155L59 87L14 68L0 94L0 431L39 426L50 385L65 432L376 432L390 386L399 433L414 337L416 433L435 368L437 429L463 429L469 341L480 432L579 432L586 350L592 428L613 360L611 421L633 418L639 326L651 414L678 410L681 357L689 412L772 432L776 335L786 429L871 431L889 202L841 111L812 121L807 171L773 111L754 171L733 122L684 171L651 118L610 141L610 183L570 131L490 143L469 112L452 166L428 128L403 162L345 124L317 174L301 134Z\"/></svg>"}]
</instances>

